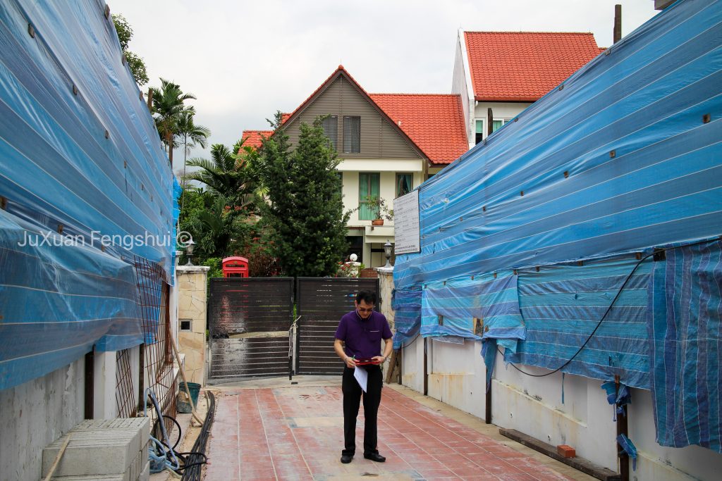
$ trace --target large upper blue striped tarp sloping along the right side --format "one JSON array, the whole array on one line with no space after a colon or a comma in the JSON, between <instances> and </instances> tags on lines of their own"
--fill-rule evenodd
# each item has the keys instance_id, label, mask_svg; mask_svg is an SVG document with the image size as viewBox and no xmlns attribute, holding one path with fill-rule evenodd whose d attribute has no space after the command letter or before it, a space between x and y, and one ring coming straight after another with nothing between
<instances>
[{"instance_id":1,"label":"large upper blue striped tarp sloping along the right side","mask_svg":"<svg viewBox=\"0 0 722 481\"><path fill-rule=\"evenodd\" d=\"M721 45L721 1L679 1L422 184L396 287L722 232Z\"/></svg>"}]
</instances>

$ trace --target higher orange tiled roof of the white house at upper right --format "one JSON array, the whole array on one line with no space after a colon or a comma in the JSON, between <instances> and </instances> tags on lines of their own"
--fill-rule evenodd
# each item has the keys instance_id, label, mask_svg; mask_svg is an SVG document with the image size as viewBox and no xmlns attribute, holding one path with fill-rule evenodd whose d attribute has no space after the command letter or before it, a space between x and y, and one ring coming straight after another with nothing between
<instances>
[{"instance_id":1,"label":"higher orange tiled roof of the white house at upper right","mask_svg":"<svg viewBox=\"0 0 722 481\"><path fill-rule=\"evenodd\" d=\"M591 33L464 32L474 100L535 102L604 51Z\"/></svg>"}]
</instances>

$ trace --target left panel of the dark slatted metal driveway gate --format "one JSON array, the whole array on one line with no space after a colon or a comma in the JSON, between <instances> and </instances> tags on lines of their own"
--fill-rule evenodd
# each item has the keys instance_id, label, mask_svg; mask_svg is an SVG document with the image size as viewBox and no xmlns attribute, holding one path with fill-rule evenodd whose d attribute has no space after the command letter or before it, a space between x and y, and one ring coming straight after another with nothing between
<instances>
[{"instance_id":1,"label":"left panel of the dark slatted metal driveway gate","mask_svg":"<svg viewBox=\"0 0 722 481\"><path fill-rule=\"evenodd\" d=\"M293 278L212 278L209 384L288 374Z\"/></svg>"}]
</instances>

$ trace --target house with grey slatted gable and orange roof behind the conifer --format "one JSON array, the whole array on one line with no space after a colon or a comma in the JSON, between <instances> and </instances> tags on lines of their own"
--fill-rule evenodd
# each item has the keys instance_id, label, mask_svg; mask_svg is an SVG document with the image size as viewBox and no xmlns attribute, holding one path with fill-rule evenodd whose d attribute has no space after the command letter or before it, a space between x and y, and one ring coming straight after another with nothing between
<instances>
[{"instance_id":1,"label":"house with grey slatted gable and orange roof behind the conifer","mask_svg":"<svg viewBox=\"0 0 722 481\"><path fill-rule=\"evenodd\" d=\"M409 193L469 149L464 112L458 94L369 94L339 66L290 114L282 128L291 144L300 123L319 116L331 144L342 159L344 207L354 210L348 223L351 249L367 267L383 265L383 244L393 243L393 219L373 226L378 211L368 201ZM272 131L243 131L245 145L260 147Z\"/></svg>"}]
</instances>

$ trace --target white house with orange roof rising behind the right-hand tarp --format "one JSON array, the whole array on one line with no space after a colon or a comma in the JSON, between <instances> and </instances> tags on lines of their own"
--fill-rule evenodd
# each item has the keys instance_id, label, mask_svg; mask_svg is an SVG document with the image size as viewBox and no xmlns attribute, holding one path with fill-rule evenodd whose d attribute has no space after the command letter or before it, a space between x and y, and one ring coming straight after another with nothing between
<instances>
[{"instance_id":1,"label":"white house with orange roof rising behind the right-hand tarp","mask_svg":"<svg viewBox=\"0 0 722 481\"><path fill-rule=\"evenodd\" d=\"M459 30L451 91L461 96L469 148L603 51L591 33Z\"/></svg>"}]
</instances>

